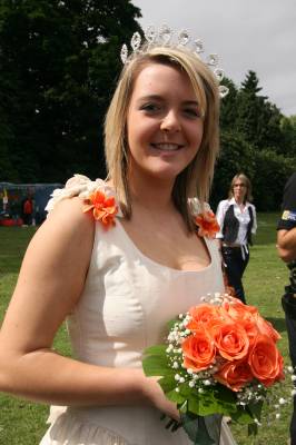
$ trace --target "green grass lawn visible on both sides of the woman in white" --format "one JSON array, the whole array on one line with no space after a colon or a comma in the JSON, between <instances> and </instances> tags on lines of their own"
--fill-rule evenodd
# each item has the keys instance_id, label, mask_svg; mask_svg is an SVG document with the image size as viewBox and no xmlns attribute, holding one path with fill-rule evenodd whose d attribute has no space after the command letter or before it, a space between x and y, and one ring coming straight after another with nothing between
<instances>
[{"instance_id":1,"label":"green grass lawn visible on both sides of the woman in white","mask_svg":"<svg viewBox=\"0 0 296 445\"><path fill-rule=\"evenodd\" d=\"M250 261L244 284L248 303L258 306L262 315L282 334L279 347L288 363L287 336L280 306L284 285L288 281L288 270L277 258L275 249L277 218L276 214L259 214L258 235L255 246L250 249ZM31 227L0 227L0 324L16 285L23 253L34 230ZM69 354L65 326L58 333L55 347L62 354ZM287 382L284 392L288 392L289 388L290 383ZM269 411L274 412L274 407L270 406ZM285 445L288 437L289 411L290 407L284 408L282 418L262 427L256 438L247 437L245 427L233 425L237 444ZM0 394L0 444L38 445L47 428L47 406Z\"/></svg>"}]
</instances>

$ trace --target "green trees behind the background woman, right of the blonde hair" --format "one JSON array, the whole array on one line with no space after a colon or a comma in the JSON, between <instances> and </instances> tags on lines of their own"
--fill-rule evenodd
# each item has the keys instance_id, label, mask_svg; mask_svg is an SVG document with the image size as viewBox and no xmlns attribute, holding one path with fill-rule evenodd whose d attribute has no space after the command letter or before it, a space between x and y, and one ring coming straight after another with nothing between
<instances>
[{"instance_id":1,"label":"green trees behind the background woman, right of the blonde hair","mask_svg":"<svg viewBox=\"0 0 296 445\"><path fill-rule=\"evenodd\" d=\"M244 171L251 180L258 210L277 210L284 185L296 170L296 119L285 117L265 96L249 71L237 88L224 81L229 95L221 101L221 155L215 170L211 201L227 197L231 178Z\"/></svg>"}]
</instances>

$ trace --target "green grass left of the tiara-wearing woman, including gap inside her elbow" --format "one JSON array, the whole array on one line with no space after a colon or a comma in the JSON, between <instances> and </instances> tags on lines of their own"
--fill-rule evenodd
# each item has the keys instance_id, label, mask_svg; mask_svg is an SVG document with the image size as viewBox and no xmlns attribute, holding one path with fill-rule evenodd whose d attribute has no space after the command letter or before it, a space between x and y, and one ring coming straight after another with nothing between
<instances>
[{"instance_id":1,"label":"green grass left of the tiara-wearing woman, including gap inside her elbow","mask_svg":"<svg viewBox=\"0 0 296 445\"><path fill-rule=\"evenodd\" d=\"M18 279L26 248L34 234L33 227L0 227L0 325ZM55 347L70 354L65 325ZM48 406L38 405L0 393L0 445L37 445L47 425Z\"/></svg>"}]
</instances>

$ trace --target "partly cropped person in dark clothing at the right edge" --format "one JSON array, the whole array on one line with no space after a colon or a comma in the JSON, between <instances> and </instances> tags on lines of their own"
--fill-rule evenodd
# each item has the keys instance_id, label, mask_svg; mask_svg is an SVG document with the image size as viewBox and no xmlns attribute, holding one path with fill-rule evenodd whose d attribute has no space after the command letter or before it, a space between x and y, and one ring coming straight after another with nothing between
<instances>
[{"instance_id":1,"label":"partly cropped person in dark clothing at the right edge","mask_svg":"<svg viewBox=\"0 0 296 445\"><path fill-rule=\"evenodd\" d=\"M289 268L289 285L282 298L285 310L289 355L296 366L296 172L288 179L283 196L282 217L277 225L277 250ZM296 399L290 421L290 445L296 445Z\"/></svg>"}]
</instances>

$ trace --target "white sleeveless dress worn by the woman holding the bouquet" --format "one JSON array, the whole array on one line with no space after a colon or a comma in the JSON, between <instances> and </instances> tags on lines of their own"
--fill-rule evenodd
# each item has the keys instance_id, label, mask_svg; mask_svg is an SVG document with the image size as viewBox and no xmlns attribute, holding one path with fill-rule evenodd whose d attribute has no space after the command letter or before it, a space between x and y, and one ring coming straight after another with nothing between
<instances>
[{"instance_id":1,"label":"white sleeveless dress worn by the woman holding the bouquet","mask_svg":"<svg viewBox=\"0 0 296 445\"><path fill-rule=\"evenodd\" d=\"M131 241L120 218L106 231L96 222L86 286L68 319L77 359L108 367L141 367L142 352L164 343L167 322L223 291L216 243L206 239L210 265L181 271L155 263ZM171 433L161 413L147 406L51 407L51 426L40 445L189 445ZM235 445L223 423L220 445Z\"/></svg>"}]
</instances>

